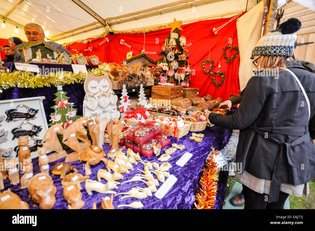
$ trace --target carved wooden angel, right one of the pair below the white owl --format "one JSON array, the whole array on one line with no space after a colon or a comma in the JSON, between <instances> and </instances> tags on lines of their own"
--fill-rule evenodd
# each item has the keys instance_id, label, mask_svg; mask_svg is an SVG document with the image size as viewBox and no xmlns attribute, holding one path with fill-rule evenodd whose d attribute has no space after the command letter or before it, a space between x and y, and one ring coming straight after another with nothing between
<instances>
[{"instance_id":1,"label":"carved wooden angel, right one of the pair below the white owl","mask_svg":"<svg viewBox=\"0 0 315 231\"><path fill-rule=\"evenodd\" d=\"M123 124L124 124L124 119L118 119L114 118L114 123L112 121L108 122L107 125L107 130L108 130L108 135L109 135L109 141L111 145L111 150L107 154L108 157L116 157L118 154L118 151L120 150L118 147L120 138L119 138L119 133L122 132L123 130Z\"/></svg>"}]
</instances>

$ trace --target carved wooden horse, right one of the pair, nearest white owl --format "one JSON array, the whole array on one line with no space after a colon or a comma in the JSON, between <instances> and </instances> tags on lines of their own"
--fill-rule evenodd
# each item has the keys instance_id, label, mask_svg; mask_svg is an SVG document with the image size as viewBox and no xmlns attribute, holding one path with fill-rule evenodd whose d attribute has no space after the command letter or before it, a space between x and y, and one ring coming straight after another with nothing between
<instances>
[{"instance_id":1,"label":"carved wooden horse, right one of the pair, nearest white owl","mask_svg":"<svg viewBox=\"0 0 315 231\"><path fill-rule=\"evenodd\" d=\"M65 130L62 142L75 151L67 155L65 162L72 162L79 159L80 154L83 150L77 137L77 135L80 133L82 133L83 135L87 134L87 131L85 130L82 121L76 120Z\"/></svg>"}]
</instances>

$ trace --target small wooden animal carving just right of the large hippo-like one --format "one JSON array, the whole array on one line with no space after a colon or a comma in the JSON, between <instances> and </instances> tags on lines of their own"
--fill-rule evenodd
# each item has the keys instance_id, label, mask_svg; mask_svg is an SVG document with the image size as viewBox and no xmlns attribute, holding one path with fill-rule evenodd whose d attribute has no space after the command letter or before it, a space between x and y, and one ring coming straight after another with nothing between
<instances>
[{"instance_id":1,"label":"small wooden animal carving just right of the large hippo-like one","mask_svg":"<svg viewBox=\"0 0 315 231\"><path fill-rule=\"evenodd\" d=\"M82 193L75 184L68 184L62 192L63 197L68 202L68 209L82 209L84 201Z\"/></svg>"}]
</instances>

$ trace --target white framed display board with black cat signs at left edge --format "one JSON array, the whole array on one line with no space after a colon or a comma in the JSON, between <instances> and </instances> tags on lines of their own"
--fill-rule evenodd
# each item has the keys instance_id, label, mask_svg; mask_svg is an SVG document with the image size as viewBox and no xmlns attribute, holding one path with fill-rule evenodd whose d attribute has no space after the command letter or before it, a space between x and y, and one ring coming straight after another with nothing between
<instances>
[{"instance_id":1,"label":"white framed display board with black cat signs at left edge","mask_svg":"<svg viewBox=\"0 0 315 231\"><path fill-rule=\"evenodd\" d=\"M38 96L0 101L0 155L4 160L17 158L21 142L27 143L31 158L38 156L37 147L43 146L48 129L44 99Z\"/></svg>"}]
</instances>

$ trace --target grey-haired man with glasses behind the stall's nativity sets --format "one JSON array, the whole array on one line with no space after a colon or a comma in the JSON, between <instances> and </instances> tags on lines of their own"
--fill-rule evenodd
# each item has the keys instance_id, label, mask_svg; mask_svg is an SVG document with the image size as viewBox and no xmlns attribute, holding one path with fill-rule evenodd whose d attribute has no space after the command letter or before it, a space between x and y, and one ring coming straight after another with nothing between
<instances>
[{"instance_id":1,"label":"grey-haired man with glasses behind the stall's nativity sets","mask_svg":"<svg viewBox=\"0 0 315 231\"><path fill-rule=\"evenodd\" d=\"M44 41L45 34L44 34L44 30L41 26L39 26L35 23L28 23L24 26L24 31L25 31L25 35L26 35L26 38L27 38L29 43L33 43L33 42L37 42L37 41ZM72 56L72 54L66 48L64 48L62 45L60 45L58 43L54 43L54 42L46 42L46 43L48 43L50 46L53 46L54 48L58 49L60 51L60 53L66 52L67 55L69 55L70 57ZM23 44L27 44L27 43L23 43ZM20 45L15 47L14 59L16 62L20 61L20 59L21 59L21 54L16 49L19 48L20 46L22 46L23 44L20 44Z\"/></svg>"}]
</instances>

